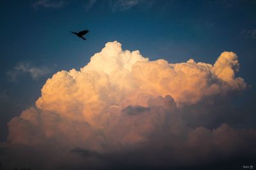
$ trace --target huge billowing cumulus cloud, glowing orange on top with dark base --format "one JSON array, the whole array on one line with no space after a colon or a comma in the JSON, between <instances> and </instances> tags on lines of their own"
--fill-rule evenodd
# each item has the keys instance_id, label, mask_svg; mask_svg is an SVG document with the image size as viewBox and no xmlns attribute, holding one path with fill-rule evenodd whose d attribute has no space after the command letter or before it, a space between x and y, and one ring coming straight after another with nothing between
<instances>
[{"instance_id":1,"label":"huge billowing cumulus cloud, glowing orange on top with dark base","mask_svg":"<svg viewBox=\"0 0 256 170\"><path fill-rule=\"evenodd\" d=\"M109 42L79 71L49 78L35 107L8 123L8 142L54 157L45 164L56 169L195 166L235 159L248 147L250 157L255 130L231 127L219 107L246 89L238 70L233 52L213 65L170 64Z\"/></svg>"}]
</instances>

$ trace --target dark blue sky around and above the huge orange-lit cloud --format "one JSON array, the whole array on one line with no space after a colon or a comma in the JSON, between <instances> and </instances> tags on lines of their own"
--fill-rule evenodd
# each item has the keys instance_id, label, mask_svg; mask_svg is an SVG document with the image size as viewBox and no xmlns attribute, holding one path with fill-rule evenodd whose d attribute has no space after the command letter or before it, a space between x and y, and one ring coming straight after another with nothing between
<instances>
[{"instance_id":1,"label":"dark blue sky around and above the huge orange-lit cloud","mask_svg":"<svg viewBox=\"0 0 256 170\"><path fill-rule=\"evenodd\" d=\"M248 112L248 126L253 125L256 1L120 2L1 1L1 141L6 139L7 122L33 106L47 78L85 66L105 43L115 40L125 50L140 50L150 60L168 62L193 58L213 64L221 52L237 53L237 75L252 86L237 103ZM83 29L90 30L86 41L69 32ZM20 63L49 71L32 78L14 69ZM14 81L8 74L13 72Z\"/></svg>"}]
</instances>

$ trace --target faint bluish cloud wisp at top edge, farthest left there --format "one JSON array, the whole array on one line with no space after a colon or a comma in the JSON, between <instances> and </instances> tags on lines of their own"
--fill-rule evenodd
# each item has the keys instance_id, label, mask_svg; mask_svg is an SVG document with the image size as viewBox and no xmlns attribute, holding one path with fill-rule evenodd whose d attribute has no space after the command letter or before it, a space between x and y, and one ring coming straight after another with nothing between
<instances>
[{"instance_id":1,"label":"faint bluish cloud wisp at top edge, farthest left there","mask_svg":"<svg viewBox=\"0 0 256 170\"><path fill-rule=\"evenodd\" d=\"M33 4L33 8L62 8L64 1L54 1L54 0L39 0Z\"/></svg>"}]
</instances>

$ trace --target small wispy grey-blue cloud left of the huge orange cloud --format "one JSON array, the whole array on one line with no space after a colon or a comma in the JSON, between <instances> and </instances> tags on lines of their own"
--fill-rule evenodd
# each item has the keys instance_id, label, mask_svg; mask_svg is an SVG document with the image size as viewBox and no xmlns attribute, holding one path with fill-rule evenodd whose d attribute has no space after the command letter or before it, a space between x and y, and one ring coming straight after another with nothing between
<instances>
[{"instance_id":1,"label":"small wispy grey-blue cloud left of the huge orange cloud","mask_svg":"<svg viewBox=\"0 0 256 170\"><path fill-rule=\"evenodd\" d=\"M8 71L6 74L10 77L12 81L16 81L17 77L21 73L28 73L33 80L38 80L38 78L51 73L51 70L47 67L36 67L31 66L27 62L19 62L12 70Z\"/></svg>"}]
</instances>

